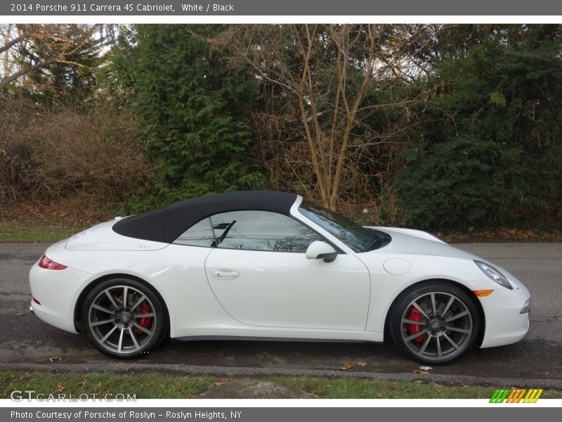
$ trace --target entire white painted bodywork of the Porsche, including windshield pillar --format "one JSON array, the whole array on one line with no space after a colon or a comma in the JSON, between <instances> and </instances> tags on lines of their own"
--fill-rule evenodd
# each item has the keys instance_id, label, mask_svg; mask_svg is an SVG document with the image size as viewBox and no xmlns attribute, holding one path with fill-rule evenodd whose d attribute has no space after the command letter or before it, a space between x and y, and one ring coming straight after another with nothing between
<instances>
[{"instance_id":1,"label":"entire white painted bodywork of the Porsche, including windshield pillar","mask_svg":"<svg viewBox=\"0 0 562 422\"><path fill-rule=\"evenodd\" d=\"M47 257L68 268L53 271L34 264L30 285L41 305L32 302L32 309L48 324L77 333L74 314L84 289L105 276L125 274L150 283L162 296L172 338L381 341L396 297L415 283L440 279L465 290L494 290L478 298L485 315L481 347L514 343L527 333L528 314L519 310L530 294L507 271L500 269L514 290L488 279L473 262L485 260L410 229L377 227L392 241L355 253L301 215L301 200L297 197L291 215L339 248L334 262L307 260L303 253L144 241L115 233L112 220L46 250ZM217 277L216 270L235 272Z\"/></svg>"}]
</instances>

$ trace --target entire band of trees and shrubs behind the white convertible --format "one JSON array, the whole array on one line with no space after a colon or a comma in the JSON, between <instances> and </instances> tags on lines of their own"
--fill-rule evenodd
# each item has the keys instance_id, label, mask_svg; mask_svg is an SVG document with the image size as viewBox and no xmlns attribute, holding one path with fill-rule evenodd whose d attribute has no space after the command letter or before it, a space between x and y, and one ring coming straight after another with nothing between
<instances>
[{"instance_id":1,"label":"entire band of trees and shrubs behind the white convertible","mask_svg":"<svg viewBox=\"0 0 562 422\"><path fill-rule=\"evenodd\" d=\"M0 32L5 209L275 188L371 224L562 224L559 25Z\"/></svg>"}]
</instances>

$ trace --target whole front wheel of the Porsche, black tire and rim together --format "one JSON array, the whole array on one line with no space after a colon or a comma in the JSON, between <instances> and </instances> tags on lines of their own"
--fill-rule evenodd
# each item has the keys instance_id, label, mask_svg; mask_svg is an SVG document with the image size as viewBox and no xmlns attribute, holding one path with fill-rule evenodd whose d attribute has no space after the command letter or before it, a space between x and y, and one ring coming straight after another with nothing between
<instances>
[{"instance_id":1,"label":"whole front wheel of the Porsche, black tire and rim together","mask_svg":"<svg viewBox=\"0 0 562 422\"><path fill-rule=\"evenodd\" d=\"M431 281L400 295L389 328L393 342L407 356L424 364L445 364L473 347L480 319L462 289Z\"/></svg>"}]
</instances>

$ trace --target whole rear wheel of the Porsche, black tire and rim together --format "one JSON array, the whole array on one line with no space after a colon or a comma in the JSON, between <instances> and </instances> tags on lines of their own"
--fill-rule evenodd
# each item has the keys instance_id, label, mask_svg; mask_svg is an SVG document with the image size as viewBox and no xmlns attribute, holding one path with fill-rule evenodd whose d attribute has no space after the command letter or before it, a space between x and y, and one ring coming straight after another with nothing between
<instances>
[{"instance_id":1,"label":"whole rear wheel of the Porsche, black tire and rim together","mask_svg":"<svg viewBox=\"0 0 562 422\"><path fill-rule=\"evenodd\" d=\"M148 353L168 333L168 315L159 295L134 279L109 279L92 288L81 318L90 343L121 359Z\"/></svg>"}]
</instances>

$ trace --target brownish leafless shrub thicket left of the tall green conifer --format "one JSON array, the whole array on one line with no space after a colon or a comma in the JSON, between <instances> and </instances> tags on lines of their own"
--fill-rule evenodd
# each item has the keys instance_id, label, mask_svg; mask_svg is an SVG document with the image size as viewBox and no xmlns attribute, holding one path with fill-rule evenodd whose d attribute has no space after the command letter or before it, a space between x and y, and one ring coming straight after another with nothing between
<instances>
[{"instance_id":1,"label":"brownish leafless shrub thicket left of the tall green conifer","mask_svg":"<svg viewBox=\"0 0 562 422\"><path fill-rule=\"evenodd\" d=\"M151 171L139 136L136 122L110 108L18 115L1 132L0 200L119 203Z\"/></svg>"}]
</instances>

